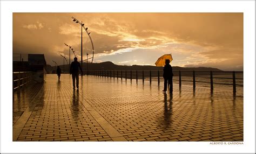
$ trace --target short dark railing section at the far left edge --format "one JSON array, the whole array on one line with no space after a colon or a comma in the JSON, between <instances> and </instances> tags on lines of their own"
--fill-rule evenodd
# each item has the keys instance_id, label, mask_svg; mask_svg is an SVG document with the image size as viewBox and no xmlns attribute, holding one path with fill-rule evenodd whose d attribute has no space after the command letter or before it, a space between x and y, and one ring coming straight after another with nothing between
<instances>
[{"instance_id":1,"label":"short dark railing section at the far left edge","mask_svg":"<svg viewBox=\"0 0 256 154\"><path fill-rule=\"evenodd\" d=\"M16 90L25 86L31 81L32 72L13 72L13 89Z\"/></svg>"}]
</instances>

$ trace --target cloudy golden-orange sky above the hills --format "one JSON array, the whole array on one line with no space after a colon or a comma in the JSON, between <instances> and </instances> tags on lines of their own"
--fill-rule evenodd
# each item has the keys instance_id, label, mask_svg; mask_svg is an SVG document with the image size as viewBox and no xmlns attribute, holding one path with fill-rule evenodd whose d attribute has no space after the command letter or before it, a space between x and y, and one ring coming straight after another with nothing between
<instances>
[{"instance_id":1,"label":"cloudy golden-orange sky above the hills","mask_svg":"<svg viewBox=\"0 0 256 154\"><path fill-rule=\"evenodd\" d=\"M80 59L81 27L72 16L91 32L93 62L154 65L172 53L172 66L243 69L242 13L14 13L13 52L44 54L47 64L62 65L60 54L69 58L66 43ZM84 59L86 52L91 57L83 31Z\"/></svg>"}]
</instances>

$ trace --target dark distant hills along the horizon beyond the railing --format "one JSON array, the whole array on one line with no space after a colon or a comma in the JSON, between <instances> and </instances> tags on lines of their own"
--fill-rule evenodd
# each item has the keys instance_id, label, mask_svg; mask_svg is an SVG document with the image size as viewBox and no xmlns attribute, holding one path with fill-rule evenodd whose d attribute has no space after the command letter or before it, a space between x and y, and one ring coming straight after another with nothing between
<instances>
[{"instance_id":1,"label":"dark distant hills along the horizon beyond the railing","mask_svg":"<svg viewBox=\"0 0 256 154\"><path fill-rule=\"evenodd\" d=\"M59 67L63 71L63 65L59 65ZM83 63L83 71L86 71L87 65L86 63ZM69 72L69 65L64 65L65 72ZM212 67L179 67L179 66L173 66L173 71L220 71L222 70L218 68L212 68ZM123 66L123 65L116 65L113 64L113 62L106 61L106 62L100 62L100 63L90 63L88 64L88 70L89 71L163 71L163 67L157 67L157 66L148 66L148 65L132 65L132 66ZM47 65L46 71L48 73L55 73L55 66ZM174 75L177 73L174 73ZM208 74L208 73L207 73Z\"/></svg>"}]
</instances>

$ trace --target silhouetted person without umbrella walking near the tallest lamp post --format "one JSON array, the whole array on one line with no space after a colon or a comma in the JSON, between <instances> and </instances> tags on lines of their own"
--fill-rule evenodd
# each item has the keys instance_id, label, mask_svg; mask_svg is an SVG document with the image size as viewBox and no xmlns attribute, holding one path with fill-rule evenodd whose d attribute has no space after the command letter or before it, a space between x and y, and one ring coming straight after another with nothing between
<instances>
[{"instance_id":1,"label":"silhouetted person without umbrella walking near the tallest lamp post","mask_svg":"<svg viewBox=\"0 0 256 154\"><path fill-rule=\"evenodd\" d=\"M76 87L75 80L77 80L77 89L79 88L79 69L83 74L80 63L77 61L77 58L75 57L74 61L71 62L71 66L70 66L70 74L72 74L72 80L73 80L73 89L75 89Z\"/></svg>"}]
</instances>

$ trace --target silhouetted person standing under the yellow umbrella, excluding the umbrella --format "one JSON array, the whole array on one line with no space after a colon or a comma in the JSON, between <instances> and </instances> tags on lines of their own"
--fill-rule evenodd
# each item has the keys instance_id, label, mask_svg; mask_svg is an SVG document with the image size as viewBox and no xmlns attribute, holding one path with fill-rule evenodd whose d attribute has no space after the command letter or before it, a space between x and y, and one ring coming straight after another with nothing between
<instances>
[{"instance_id":1,"label":"silhouetted person standing under the yellow umbrella, excluding the umbrella","mask_svg":"<svg viewBox=\"0 0 256 154\"><path fill-rule=\"evenodd\" d=\"M170 93L172 93L172 77L173 77L173 73L172 73L172 66L170 65L170 60L169 59L165 60L163 77L164 77L164 90L163 90L163 92L166 92L166 90L167 90L167 81L169 81Z\"/></svg>"}]
</instances>

